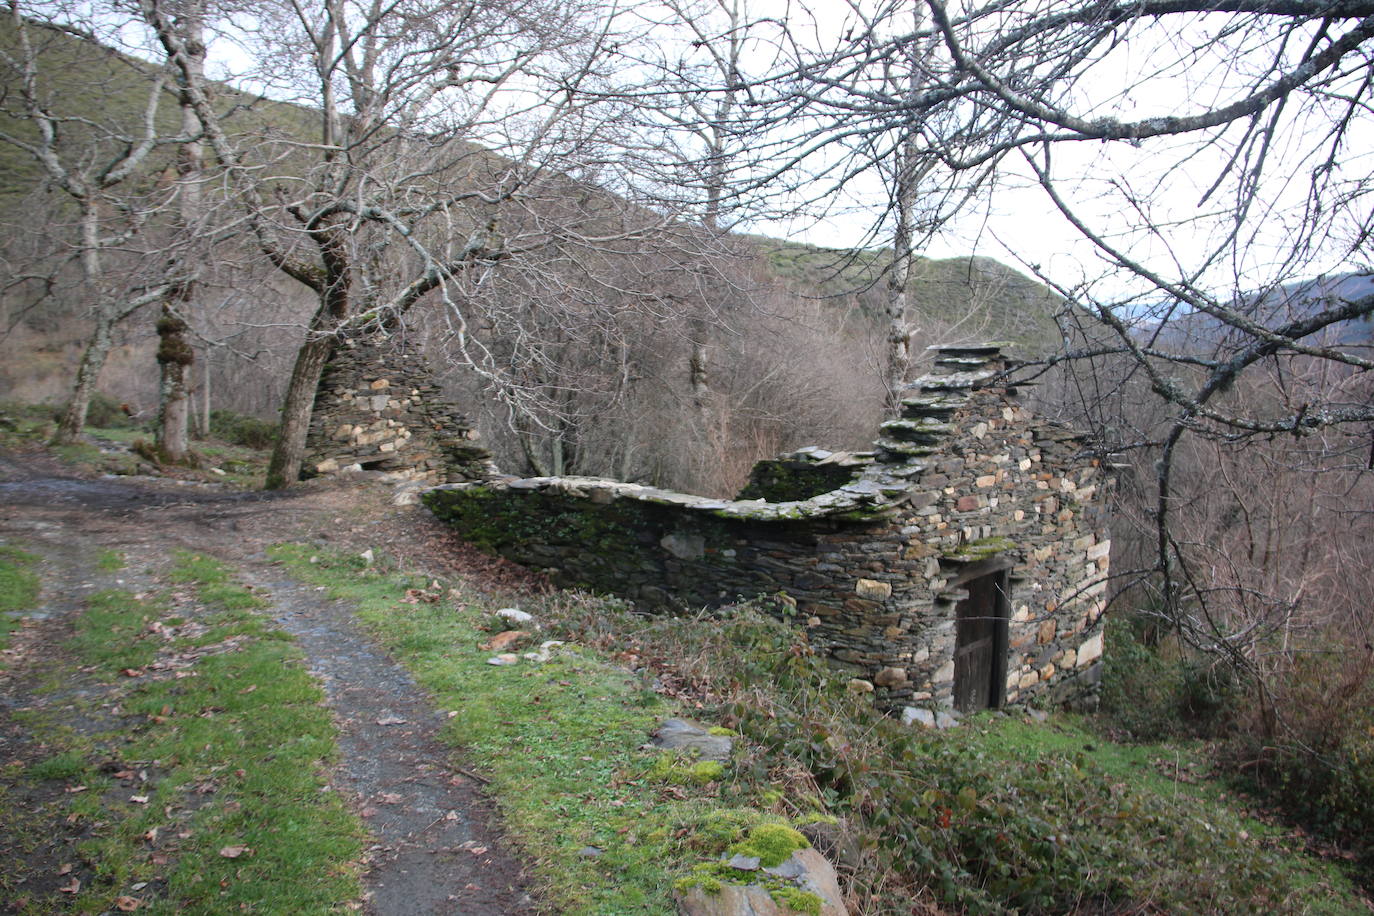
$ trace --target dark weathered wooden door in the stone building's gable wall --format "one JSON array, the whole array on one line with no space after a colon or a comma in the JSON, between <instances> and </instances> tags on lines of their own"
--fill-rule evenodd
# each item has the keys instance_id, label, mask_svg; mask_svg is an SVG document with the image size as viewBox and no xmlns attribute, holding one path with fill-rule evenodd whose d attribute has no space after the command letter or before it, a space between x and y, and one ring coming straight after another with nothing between
<instances>
[{"instance_id":1,"label":"dark weathered wooden door in the stone building's gable wall","mask_svg":"<svg viewBox=\"0 0 1374 916\"><path fill-rule=\"evenodd\" d=\"M951 582L967 592L955 606L954 706L960 713L1006 702L1010 566L1002 558L984 560Z\"/></svg>"}]
</instances>

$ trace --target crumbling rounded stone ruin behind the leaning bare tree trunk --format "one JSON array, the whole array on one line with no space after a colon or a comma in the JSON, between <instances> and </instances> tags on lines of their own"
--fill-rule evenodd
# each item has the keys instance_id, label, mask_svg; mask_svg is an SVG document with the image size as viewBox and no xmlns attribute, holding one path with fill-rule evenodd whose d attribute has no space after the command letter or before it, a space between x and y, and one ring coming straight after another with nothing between
<instances>
[{"instance_id":1,"label":"crumbling rounded stone ruin behind the leaning bare tree trunk","mask_svg":"<svg viewBox=\"0 0 1374 916\"><path fill-rule=\"evenodd\" d=\"M320 378L302 477L375 470L429 483L481 481L496 468L477 438L418 352L396 339L344 341Z\"/></svg>"}]
</instances>

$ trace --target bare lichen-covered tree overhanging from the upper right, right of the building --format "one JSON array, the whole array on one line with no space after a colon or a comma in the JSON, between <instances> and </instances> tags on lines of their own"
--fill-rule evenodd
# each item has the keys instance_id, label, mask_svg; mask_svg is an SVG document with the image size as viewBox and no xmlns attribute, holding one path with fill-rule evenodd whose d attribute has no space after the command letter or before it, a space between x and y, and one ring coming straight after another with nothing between
<instances>
[{"instance_id":1,"label":"bare lichen-covered tree overhanging from the upper right, right of the building","mask_svg":"<svg viewBox=\"0 0 1374 916\"><path fill-rule=\"evenodd\" d=\"M822 162L849 177L910 161L938 188L925 199L932 225L1020 185L1025 221L1080 239L1079 276L1039 271L1066 299L1066 336L1084 328L1055 360L1087 368L1118 354L1113 368L1142 380L1131 390L1161 404L1160 423L1134 438L1120 422L1101 431L1151 455L1162 607L1195 643L1249 665L1261 633L1202 610L1215 592L1182 534L1178 459L1198 439L1307 439L1374 420L1334 385L1301 402L1228 397L1283 358L1374 368L1359 331L1374 313L1360 282L1374 228L1360 152L1374 7L925 0L912 27L904 4L878 5L758 87L776 173ZM919 87L890 82L901 58L919 59Z\"/></svg>"}]
</instances>

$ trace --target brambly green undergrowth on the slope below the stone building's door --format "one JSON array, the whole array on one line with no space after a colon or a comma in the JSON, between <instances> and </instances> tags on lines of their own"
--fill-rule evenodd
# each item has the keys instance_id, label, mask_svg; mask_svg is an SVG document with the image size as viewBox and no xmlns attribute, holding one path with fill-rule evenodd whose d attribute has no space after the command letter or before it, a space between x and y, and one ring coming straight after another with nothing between
<instances>
[{"instance_id":1,"label":"brambly green undergrowth on the slope below the stone building's door","mask_svg":"<svg viewBox=\"0 0 1374 916\"><path fill-rule=\"evenodd\" d=\"M756 781L804 773L838 820L834 851L863 912L910 912L914 895L970 913L1360 912L1338 869L1246 817L1195 742L1117 744L1087 720L1004 714L914 731L757 610L661 618L565 600L548 612L720 698L720 720L764 750Z\"/></svg>"}]
</instances>

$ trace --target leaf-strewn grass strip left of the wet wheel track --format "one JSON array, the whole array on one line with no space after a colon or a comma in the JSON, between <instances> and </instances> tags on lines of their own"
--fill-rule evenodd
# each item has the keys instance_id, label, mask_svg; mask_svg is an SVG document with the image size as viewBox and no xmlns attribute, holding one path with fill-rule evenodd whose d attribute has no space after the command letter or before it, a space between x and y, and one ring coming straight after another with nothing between
<instances>
[{"instance_id":1,"label":"leaf-strewn grass strip left of the wet wheel track","mask_svg":"<svg viewBox=\"0 0 1374 916\"><path fill-rule=\"evenodd\" d=\"M15 912L352 908L364 832L328 791L335 729L300 651L217 562L179 555L170 578L176 597L104 591L76 622L84 676L114 684L109 731L29 722L51 753L23 786L60 787L52 814L77 835L65 856L80 884ZM16 798L0 792L0 820L38 829L33 810L5 810Z\"/></svg>"}]
</instances>

